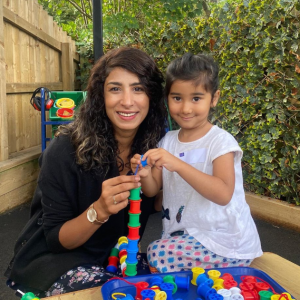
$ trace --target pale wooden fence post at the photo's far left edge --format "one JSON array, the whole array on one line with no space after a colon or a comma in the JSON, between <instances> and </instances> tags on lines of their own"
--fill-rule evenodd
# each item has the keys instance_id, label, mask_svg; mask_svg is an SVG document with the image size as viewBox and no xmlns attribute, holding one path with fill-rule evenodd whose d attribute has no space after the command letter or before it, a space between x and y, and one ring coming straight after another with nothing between
<instances>
[{"instance_id":1,"label":"pale wooden fence post at the photo's far left edge","mask_svg":"<svg viewBox=\"0 0 300 300\"><path fill-rule=\"evenodd\" d=\"M0 3L0 161L8 159L3 4Z\"/></svg>"}]
</instances>

